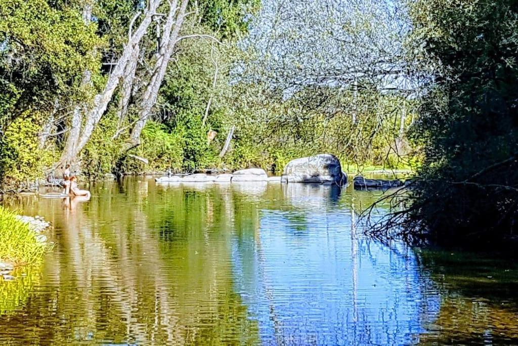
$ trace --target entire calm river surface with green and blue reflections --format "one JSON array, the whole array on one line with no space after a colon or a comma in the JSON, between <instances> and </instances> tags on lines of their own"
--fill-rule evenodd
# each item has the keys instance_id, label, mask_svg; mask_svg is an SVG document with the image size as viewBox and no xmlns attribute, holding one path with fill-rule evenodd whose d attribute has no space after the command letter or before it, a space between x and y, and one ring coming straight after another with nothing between
<instances>
[{"instance_id":1,"label":"entire calm river surface with green and blue reflections","mask_svg":"<svg viewBox=\"0 0 518 346\"><path fill-rule=\"evenodd\" d=\"M357 215L381 192L90 189L3 202L49 220L55 246L0 282L0 344L518 343L514 261L364 237Z\"/></svg>"}]
</instances>

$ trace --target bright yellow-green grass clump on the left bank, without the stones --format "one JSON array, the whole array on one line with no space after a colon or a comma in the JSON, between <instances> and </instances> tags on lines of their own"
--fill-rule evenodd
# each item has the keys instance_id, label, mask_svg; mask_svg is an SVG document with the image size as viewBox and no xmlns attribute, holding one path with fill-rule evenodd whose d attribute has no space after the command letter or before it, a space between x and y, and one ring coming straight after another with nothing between
<instances>
[{"instance_id":1,"label":"bright yellow-green grass clump on the left bank, without the stones","mask_svg":"<svg viewBox=\"0 0 518 346\"><path fill-rule=\"evenodd\" d=\"M16 218L16 214L0 206L0 261L32 264L46 251L36 241L36 233Z\"/></svg>"}]
</instances>

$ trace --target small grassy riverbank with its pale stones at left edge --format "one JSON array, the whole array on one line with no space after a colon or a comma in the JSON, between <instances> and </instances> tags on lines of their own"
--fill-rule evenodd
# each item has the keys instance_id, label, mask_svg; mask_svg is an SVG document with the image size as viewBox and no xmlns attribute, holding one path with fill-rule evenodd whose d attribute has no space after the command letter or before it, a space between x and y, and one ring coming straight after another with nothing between
<instances>
[{"instance_id":1,"label":"small grassy riverbank with its pale stones at left edge","mask_svg":"<svg viewBox=\"0 0 518 346\"><path fill-rule=\"evenodd\" d=\"M11 271L41 259L48 242L42 234L50 224L41 217L20 216L0 206L0 277L13 279Z\"/></svg>"}]
</instances>

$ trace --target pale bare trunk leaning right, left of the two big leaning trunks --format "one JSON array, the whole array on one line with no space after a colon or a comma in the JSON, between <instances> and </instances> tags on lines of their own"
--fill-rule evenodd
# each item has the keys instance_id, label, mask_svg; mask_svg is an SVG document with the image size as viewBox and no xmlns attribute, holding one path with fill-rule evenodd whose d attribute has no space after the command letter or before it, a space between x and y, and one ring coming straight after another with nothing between
<instances>
[{"instance_id":1,"label":"pale bare trunk leaning right, left of the two big leaning trunks","mask_svg":"<svg viewBox=\"0 0 518 346\"><path fill-rule=\"evenodd\" d=\"M81 149L90 140L92 132L94 131L97 123L106 111L108 103L110 102L114 91L119 85L120 79L124 77L124 72L127 72L126 66L134 56L133 53L137 48L137 45L140 43L142 37L146 34L148 27L150 26L153 20L153 15L155 14L156 9L159 7L161 2L162 0L150 0L149 8L146 11L145 17L142 19L142 22L138 26L138 29L135 31L135 33L132 33L130 28L130 35L128 38L128 42L122 52L122 56L119 58L117 65L113 69L112 73L109 75L108 81L106 82L106 86L103 92L95 96L94 108L91 109L90 112L88 112L87 114L84 127L81 131L79 139L77 140L77 143L74 143L75 139L73 137L69 136L69 138L67 139L66 146L74 149L71 150L69 153L63 153L62 160L76 157L81 151ZM133 22L134 20L132 20L132 23ZM71 143L68 143L69 141Z\"/></svg>"}]
</instances>

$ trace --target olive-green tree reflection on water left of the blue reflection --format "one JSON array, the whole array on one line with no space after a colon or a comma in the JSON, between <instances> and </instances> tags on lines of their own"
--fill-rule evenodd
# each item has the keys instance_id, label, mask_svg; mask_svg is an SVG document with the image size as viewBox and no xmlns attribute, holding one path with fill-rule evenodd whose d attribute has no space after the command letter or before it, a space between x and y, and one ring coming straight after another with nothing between
<instances>
[{"instance_id":1,"label":"olive-green tree reflection on water left of the blue reflection","mask_svg":"<svg viewBox=\"0 0 518 346\"><path fill-rule=\"evenodd\" d=\"M56 246L42 269L44 292L27 298L28 287L16 299L25 307L0 317L0 330L12 329L2 342L258 343L233 292L223 227L232 211L218 191L130 185L123 199L120 186L100 184L88 203L22 202L29 214L53 215ZM13 327L22 315L23 328Z\"/></svg>"}]
</instances>

